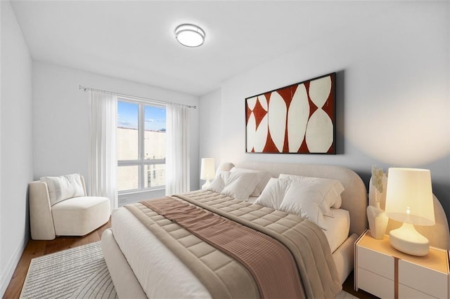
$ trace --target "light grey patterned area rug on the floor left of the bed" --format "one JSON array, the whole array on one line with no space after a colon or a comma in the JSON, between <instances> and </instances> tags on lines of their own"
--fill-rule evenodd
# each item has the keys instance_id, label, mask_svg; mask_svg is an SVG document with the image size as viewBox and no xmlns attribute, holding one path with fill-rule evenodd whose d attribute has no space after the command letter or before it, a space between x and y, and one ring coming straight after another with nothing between
<instances>
[{"instance_id":1,"label":"light grey patterned area rug on the floor left of the bed","mask_svg":"<svg viewBox=\"0 0 450 299\"><path fill-rule=\"evenodd\" d=\"M20 298L118 298L101 243L33 258Z\"/></svg>"}]
</instances>

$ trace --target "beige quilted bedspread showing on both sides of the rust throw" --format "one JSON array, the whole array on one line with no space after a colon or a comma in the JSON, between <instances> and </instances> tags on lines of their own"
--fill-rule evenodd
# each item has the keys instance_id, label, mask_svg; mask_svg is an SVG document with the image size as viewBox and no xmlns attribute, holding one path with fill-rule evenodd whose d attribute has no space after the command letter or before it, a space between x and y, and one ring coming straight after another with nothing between
<instances>
[{"instance_id":1,"label":"beige quilted bedspread showing on both sides of the rust throw","mask_svg":"<svg viewBox=\"0 0 450 299\"><path fill-rule=\"evenodd\" d=\"M333 298L341 289L328 241L319 227L291 215L208 191L176 195L283 243L293 254L308 298ZM143 204L127 206L149 230L190 267L213 298L255 298L259 291L249 271L211 248L178 224ZM195 258L194 258L195 257ZM219 258L220 257L220 258Z\"/></svg>"}]
</instances>

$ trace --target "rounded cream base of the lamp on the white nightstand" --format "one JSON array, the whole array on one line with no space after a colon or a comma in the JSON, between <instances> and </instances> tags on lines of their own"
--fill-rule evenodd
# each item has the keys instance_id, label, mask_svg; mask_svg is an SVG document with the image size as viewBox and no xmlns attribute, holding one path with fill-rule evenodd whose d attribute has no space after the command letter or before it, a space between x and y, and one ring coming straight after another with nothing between
<instances>
[{"instance_id":1,"label":"rounded cream base of the lamp on the white nightstand","mask_svg":"<svg viewBox=\"0 0 450 299\"><path fill-rule=\"evenodd\" d=\"M389 240L395 249L411 255L423 256L430 251L430 242L419 234L410 223L404 223L397 230L391 230Z\"/></svg>"}]
</instances>

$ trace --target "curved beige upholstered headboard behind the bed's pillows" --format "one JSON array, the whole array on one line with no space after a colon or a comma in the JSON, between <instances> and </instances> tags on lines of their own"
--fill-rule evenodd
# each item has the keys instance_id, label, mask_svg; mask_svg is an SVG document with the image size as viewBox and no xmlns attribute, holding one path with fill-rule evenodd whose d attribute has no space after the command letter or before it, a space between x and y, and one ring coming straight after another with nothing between
<instances>
[{"instance_id":1,"label":"curved beige upholstered headboard behind the bed's pillows","mask_svg":"<svg viewBox=\"0 0 450 299\"><path fill-rule=\"evenodd\" d=\"M272 177L278 178L280 173L304 175L316 178L330 178L340 180L345 187L342 192L342 208L350 214L350 233L362 234L367 228L367 189L359 175L349 168L341 166L267 163L245 161L236 165L241 168L249 168L268 171ZM225 169L224 169L225 170Z\"/></svg>"}]
</instances>

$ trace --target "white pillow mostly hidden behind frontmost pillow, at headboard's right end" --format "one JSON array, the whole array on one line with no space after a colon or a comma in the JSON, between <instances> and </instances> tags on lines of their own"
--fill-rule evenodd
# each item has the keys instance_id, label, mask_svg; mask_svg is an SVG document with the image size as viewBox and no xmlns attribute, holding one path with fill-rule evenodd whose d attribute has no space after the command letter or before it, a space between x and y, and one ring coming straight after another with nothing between
<instances>
[{"instance_id":1,"label":"white pillow mostly hidden behind frontmost pillow, at headboard's right end","mask_svg":"<svg viewBox=\"0 0 450 299\"><path fill-rule=\"evenodd\" d=\"M325 197L328 207L323 210L323 214L330 212L330 208L340 208L342 205L342 198L340 194L345 190L344 186L339 180L331 180L328 178L312 178L302 175L288 175L281 173L278 178L290 179L303 182L315 182L318 187L323 190L323 197ZM322 208L325 208L324 206Z\"/></svg>"}]
</instances>

